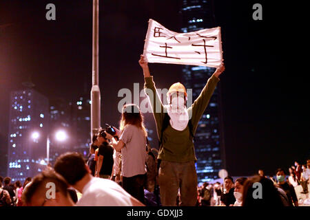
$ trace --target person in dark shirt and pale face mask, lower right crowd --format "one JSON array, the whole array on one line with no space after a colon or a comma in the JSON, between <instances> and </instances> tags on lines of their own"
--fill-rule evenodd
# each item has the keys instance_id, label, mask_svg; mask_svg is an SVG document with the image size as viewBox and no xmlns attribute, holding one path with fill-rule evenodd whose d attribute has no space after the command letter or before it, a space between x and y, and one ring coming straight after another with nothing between
<instances>
[{"instance_id":1,"label":"person in dark shirt and pale face mask, lower right crowd","mask_svg":"<svg viewBox=\"0 0 310 220\"><path fill-rule=\"evenodd\" d=\"M288 184L287 181L285 181L285 171L282 168L278 168L278 170L276 170L276 177L278 180L278 184L276 186L285 191L287 199L289 199L289 206L293 206L293 203L295 206L298 206L298 199L295 189L291 184Z\"/></svg>"}]
</instances>

